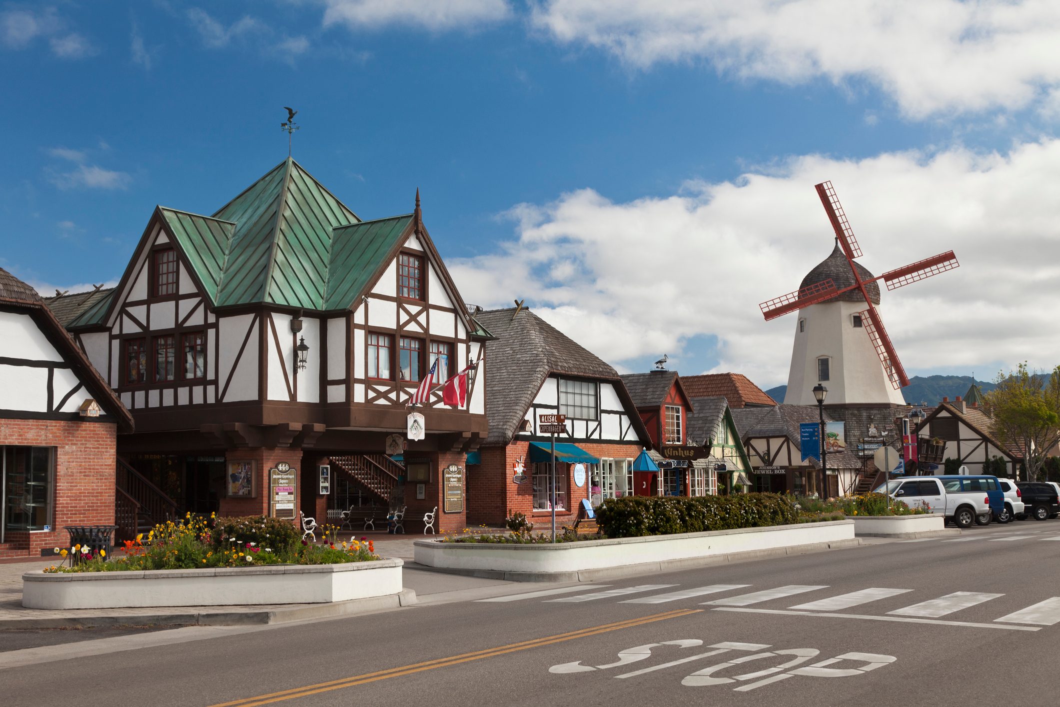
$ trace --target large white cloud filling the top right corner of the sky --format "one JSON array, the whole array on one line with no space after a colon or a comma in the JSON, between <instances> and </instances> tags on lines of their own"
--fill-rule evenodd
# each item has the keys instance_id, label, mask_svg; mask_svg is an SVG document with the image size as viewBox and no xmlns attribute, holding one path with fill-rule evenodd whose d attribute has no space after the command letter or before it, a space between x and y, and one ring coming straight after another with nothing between
<instances>
[{"instance_id":1,"label":"large white cloud filling the top right corner of the sky","mask_svg":"<svg viewBox=\"0 0 1060 707\"><path fill-rule=\"evenodd\" d=\"M624 63L785 84L866 78L908 117L1019 109L1060 86L1054 0L541 0L531 22Z\"/></svg>"}]
</instances>

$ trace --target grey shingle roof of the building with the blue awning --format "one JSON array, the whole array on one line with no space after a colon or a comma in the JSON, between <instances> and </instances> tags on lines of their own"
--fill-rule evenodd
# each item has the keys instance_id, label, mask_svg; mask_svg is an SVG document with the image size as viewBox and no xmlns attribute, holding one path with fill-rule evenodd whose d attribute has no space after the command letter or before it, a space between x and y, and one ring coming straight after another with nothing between
<instances>
[{"instance_id":1,"label":"grey shingle roof of the building with the blue awning","mask_svg":"<svg viewBox=\"0 0 1060 707\"><path fill-rule=\"evenodd\" d=\"M579 346L529 310L479 312L475 319L495 337L485 342L485 414L490 435L484 444L508 444L515 436L542 384L550 373L603 378L630 407L630 421L641 441L648 431L625 386L608 364Z\"/></svg>"}]
</instances>

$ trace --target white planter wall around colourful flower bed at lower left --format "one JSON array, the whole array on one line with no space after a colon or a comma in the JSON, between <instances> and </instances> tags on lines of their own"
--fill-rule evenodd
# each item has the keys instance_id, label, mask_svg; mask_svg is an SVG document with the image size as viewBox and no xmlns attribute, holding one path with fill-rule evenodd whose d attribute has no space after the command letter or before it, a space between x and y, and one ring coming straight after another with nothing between
<instances>
[{"instance_id":1,"label":"white planter wall around colourful flower bed at lower left","mask_svg":"<svg viewBox=\"0 0 1060 707\"><path fill-rule=\"evenodd\" d=\"M22 606L234 606L312 604L395 595L401 560L341 565L271 565L215 569L22 575Z\"/></svg>"}]
</instances>

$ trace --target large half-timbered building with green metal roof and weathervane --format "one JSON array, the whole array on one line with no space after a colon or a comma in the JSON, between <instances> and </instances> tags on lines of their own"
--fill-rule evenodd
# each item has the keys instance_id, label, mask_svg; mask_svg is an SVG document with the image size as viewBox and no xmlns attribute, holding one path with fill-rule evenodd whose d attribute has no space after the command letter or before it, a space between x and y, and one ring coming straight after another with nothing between
<instances>
[{"instance_id":1,"label":"large half-timbered building with green metal roof and weathervane","mask_svg":"<svg viewBox=\"0 0 1060 707\"><path fill-rule=\"evenodd\" d=\"M154 515L400 505L463 527L484 333L419 193L411 213L363 220L288 158L211 215L157 207L118 286L68 328L136 419L119 483ZM466 404L444 406L440 384L476 364ZM426 436L388 455L427 375Z\"/></svg>"}]
</instances>

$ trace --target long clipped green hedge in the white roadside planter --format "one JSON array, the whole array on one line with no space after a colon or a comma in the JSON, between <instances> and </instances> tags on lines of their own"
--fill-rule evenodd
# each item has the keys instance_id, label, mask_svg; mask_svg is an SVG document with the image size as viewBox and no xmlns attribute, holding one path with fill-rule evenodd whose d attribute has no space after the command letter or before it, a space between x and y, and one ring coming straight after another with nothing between
<instances>
[{"instance_id":1,"label":"long clipped green hedge in the white roadside planter","mask_svg":"<svg viewBox=\"0 0 1060 707\"><path fill-rule=\"evenodd\" d=\"M637 537L734 530L798 523L792 501L777 494L731 496L623 496L607 498L597 510L607 537Z\"/></svg>"}]
</instances>

